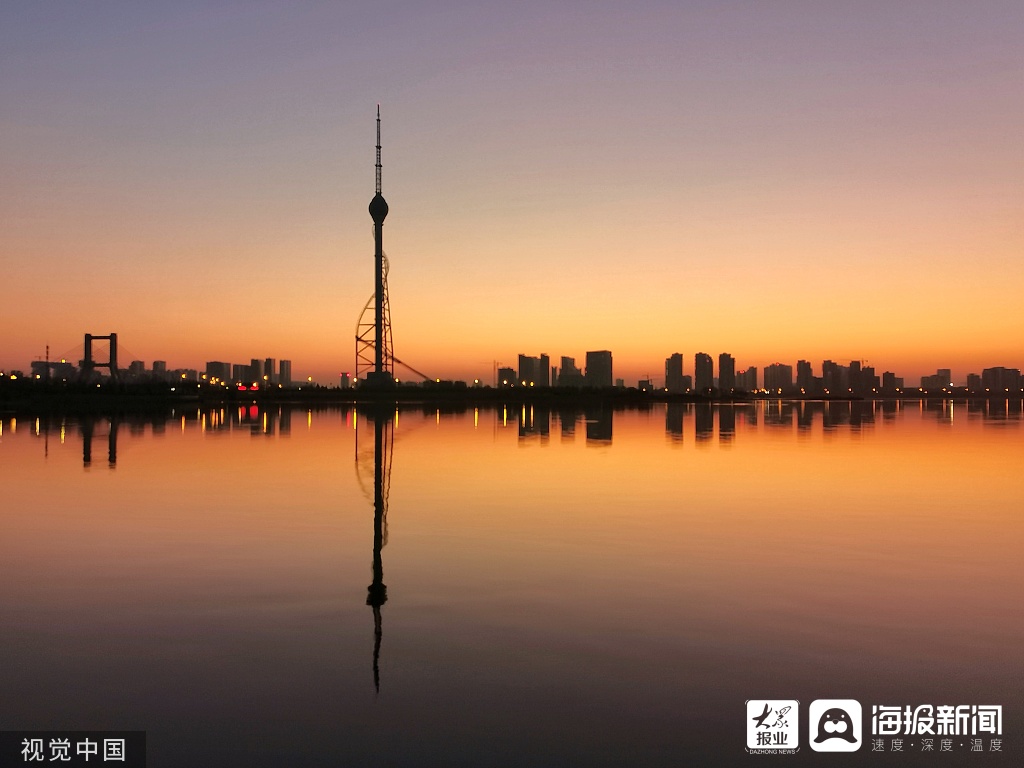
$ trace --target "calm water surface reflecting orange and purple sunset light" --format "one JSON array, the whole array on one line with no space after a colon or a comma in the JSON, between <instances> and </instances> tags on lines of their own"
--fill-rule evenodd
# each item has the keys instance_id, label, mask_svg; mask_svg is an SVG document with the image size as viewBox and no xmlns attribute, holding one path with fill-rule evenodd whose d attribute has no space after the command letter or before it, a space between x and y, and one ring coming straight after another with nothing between
<instances>
[{"instance_id":1,"label":"calm water surface reflecting orange and purple sunset light","mask_svg":"<svg viewBox=\"0 0 1024 768\"><path fill-rule=\"evenodd\" d=\"M5 729L145 730L151 766L1022 762L1019 401L0 426ZM805 722L754 757L749 698L998 703L1004 753Z\"/></svg>"}]
</instances>

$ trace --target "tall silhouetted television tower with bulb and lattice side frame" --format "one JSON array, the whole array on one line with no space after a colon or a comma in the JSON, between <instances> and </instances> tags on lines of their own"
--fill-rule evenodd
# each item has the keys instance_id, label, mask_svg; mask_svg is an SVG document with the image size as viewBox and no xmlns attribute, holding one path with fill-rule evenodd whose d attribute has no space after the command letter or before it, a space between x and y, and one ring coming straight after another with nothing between
<instances>
[{"instance_id":1,"label":"tall silhouetted television tower with bulb and lattice side frame","mask_svg":"<svg viewBox=\"0 0 1024 768\"><path fill-rule=\"evenodd\" d=\"M374 220L374 321L371 326L364 319L369 304L364 308L355 333L355 370L366 370L365 383L376 389L394 387L394 355L391 353L391 316L387 297L388 263L384 256L384 219L387 202L381 195L381 105L377 104L377 185L370 201L370 217ZM372 339L372 340L371 340ZM369 347L374 348L373 368Z\"/></svg>"}]
</instances>

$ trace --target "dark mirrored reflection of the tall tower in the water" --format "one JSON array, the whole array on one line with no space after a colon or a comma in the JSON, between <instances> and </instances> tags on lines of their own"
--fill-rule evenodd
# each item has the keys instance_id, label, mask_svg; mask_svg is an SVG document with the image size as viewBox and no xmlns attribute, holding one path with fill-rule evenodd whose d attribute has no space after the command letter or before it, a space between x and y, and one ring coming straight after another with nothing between
<instances>
[{"instance_id":1,"label":"dark mirrored reflection of the tall tower in the water","mask_svg":"<svg viewBox=\"0 0 1024 768\"><path fill-rule=\"evenodd\" d=\"M374 688L381 689L380 654L383 629L381 624L381 607L387 602L387 586L384 584L384 561L381 551L387 545L387 500L391 487L391 445L394 440L394 425L398 412L393 406L381 407L364 414L374 428L373 450L373 502L374 502L374 559L372 565L373 582L367 588L367 605L374 612ZM355 415L355 474L362 487L362 493L369 498L370 474L369 454L359 453L359 419Z\"/></svg>"}]
</instances>

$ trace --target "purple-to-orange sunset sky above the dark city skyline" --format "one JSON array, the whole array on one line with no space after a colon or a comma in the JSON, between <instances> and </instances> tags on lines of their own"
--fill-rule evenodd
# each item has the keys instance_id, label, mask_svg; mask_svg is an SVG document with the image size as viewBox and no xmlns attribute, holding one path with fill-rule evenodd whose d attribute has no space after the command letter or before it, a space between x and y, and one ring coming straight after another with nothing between
<instances>
[{"instance_id":1,"label":"purple-to-orange sunset sky above the dark city skyline","mask_svg":"<svg viewBox=\"0 0 1024 768\"><path fill-rule=\"evenodd\" d=\"M432 375L1021 368L1022 30L1020 0L3 3L0 369L117 332L123 365L337 382L378 102L395 353Z\"/></svg>"}]
</instances>

